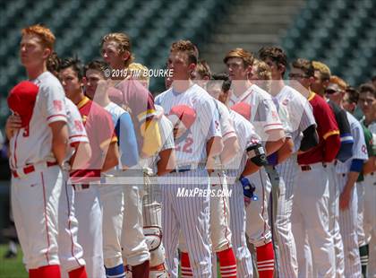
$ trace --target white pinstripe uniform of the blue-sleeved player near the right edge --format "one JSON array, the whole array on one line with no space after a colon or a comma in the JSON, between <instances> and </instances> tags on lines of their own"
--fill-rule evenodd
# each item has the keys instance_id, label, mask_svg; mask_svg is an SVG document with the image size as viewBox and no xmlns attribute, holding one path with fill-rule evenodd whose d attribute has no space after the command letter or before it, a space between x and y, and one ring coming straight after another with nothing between
<instances>
[{"instance_id":1,"label":"white pinstripe uniform of the blue-sleeved player near the right edge","mask_svg":"<svg viewBox=\"0 0 376 278\"><path fill-rule=\"evenodd\" d=\"M336 171L341 192L347 181L347 173L350 171L353 160L368 160L367 148L364 141L363 127L353 115L346 112L354 138L353 157L345 163L337 161ZM357 194L356 185L352 189L351 200L348 209L339 210L339 229L342 235L345 255L345 276L360 277L362 275L359 245L357 237Z\"/></svg>"}]
</instances>

